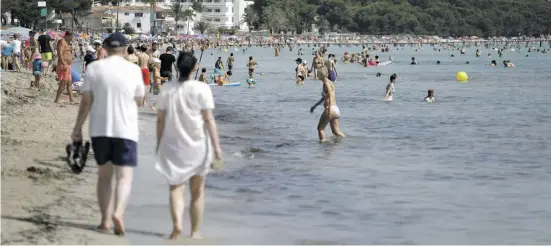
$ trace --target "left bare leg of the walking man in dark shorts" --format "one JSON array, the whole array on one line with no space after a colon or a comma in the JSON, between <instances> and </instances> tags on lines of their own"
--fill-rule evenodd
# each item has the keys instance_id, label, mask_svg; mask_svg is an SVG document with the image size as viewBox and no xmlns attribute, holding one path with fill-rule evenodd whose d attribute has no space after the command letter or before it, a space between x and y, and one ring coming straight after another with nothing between
<instances>
[{"instance_id":1,"label":"left bare leg of the walking man in dark shorts","mask_svg":"<svg viewBox=\"0 0 551 246\"><path fill-rule=\"evenodd\" d=\"M99 209L101 211L101 223L98 229L107 232L109 230L109 219L111 214L111 198L112 187L111 181L113 180L113 165L108 162L100 165L98 168L98 184L97 184L97 197Z\"/></svg>"}]
</instances>

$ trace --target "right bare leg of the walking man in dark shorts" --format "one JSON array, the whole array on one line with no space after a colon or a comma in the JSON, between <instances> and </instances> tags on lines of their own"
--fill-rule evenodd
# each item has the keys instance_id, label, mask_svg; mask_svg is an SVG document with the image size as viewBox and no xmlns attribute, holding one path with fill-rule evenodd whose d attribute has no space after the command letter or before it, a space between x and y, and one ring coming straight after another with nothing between
<instances>
[{"instance_id":1,"label":"right bare leg of the walking man in dark shorts","mask_svg":"<svg viewBox=\"0 0 551 246\"><path fill-rule=\"evenodd\" d=\"M130 191L132 190L133 170L130 166L115 166L115 210L113 211L113 224L115 235L124 235L123 216L126 209Z\"/></svg>"}]
</instances>

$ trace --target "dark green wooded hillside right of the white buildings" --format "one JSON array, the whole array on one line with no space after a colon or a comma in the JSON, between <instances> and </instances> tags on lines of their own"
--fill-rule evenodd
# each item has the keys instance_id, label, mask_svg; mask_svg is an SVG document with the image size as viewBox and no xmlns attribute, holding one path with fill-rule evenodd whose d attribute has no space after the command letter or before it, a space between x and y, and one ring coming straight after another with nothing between
<instances>
[{"instance_id":1,"label":"dark green wooded hillside right of the white buildings","mask_svg":"<svg viewBox=\"0 0 551 246\"><path fill-rule=\"evenodd\" d=\"M244 22L275 33L311 31L439 36L551 33L547 0L254 0Z\"/></svg>"}]
</instances>

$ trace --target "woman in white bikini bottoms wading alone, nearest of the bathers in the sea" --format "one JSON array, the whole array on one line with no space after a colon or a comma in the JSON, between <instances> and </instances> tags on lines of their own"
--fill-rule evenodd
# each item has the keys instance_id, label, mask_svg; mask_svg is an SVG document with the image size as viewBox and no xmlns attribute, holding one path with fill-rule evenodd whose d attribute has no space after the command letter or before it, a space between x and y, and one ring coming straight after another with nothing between
<instances>
[{"instance_id":1,"label":"woman in white bikini bottoms wading alone, nearest of the bathers in the sea","mask_svg":"<svg viewBox=\"0 0 551 246\"><path fill-rule=\"evenodd\" d=\"M337 107L337 100L335 99L335 84L329 80L326 67L318 68L317 74L318 79L323 82L323 90L321 95L323 97L323 105L325 108L318 123L318 136L320 142L327 141L327 137L325 136L325 127L327 124L331 125L333 135L337 137L344 137L344 134L339 129L339 118L341 117L341 113L339 111L339 107Z\"/></svg>"}]
</instances>

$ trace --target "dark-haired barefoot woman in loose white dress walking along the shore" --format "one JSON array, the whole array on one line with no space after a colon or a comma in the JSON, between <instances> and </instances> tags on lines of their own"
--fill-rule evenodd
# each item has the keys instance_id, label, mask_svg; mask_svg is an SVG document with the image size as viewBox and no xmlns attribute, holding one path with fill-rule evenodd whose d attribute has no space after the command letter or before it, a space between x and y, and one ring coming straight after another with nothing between
<instances>
[{"instance_id":1,"label":"dark-haired barefoot woman in loose white dress walking along the shore","mask_svg":"<svg viewBox=\"0 0 551 246\"><path fill-rule=\"evenodd\" d=\"M192 80L199 69L190 53L178 57L180 78L166 83L157 103L157 156L155 168L170 186L170 210L176 239L182 231L184 188L190 181L191 237L201 238L205 175L213 159L221 160L222 151L213 116L214 100L208 84Z\"/></svg>"}]
</instances>

